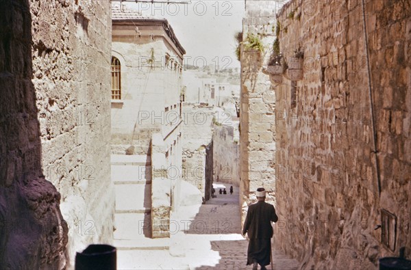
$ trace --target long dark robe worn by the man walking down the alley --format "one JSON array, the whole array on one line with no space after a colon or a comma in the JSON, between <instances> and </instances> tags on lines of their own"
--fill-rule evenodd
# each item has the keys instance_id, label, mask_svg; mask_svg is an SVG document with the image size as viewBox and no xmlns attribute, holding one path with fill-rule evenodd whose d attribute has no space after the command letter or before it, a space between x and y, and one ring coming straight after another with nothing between
<instances>
[{"instance_id":1,"label":"long dark robe worn by the man walking down the alley","mask_svg":"<svg viewBox=\"0 0 411 270\"><path fill-rule=\"evenodd\" d=\"M250 239L247 265L252 265L253 260L261 266L270 264L271 237L273 237L271 221L276 222L277 220L273 205L260 201L249 206L242 229L242 234L247 232Z\"/></svg>"}]
</instances>

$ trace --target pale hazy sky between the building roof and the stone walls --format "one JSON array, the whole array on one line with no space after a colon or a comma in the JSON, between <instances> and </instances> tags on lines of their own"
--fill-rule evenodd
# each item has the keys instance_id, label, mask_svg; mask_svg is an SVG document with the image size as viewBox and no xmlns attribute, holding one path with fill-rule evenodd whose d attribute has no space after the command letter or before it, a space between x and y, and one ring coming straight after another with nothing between
<instances>
[{"instance_id":1,"label":"pale hazy sky between the building roof and the stone walls","mask_svg":"<svg viewBox=\"0 0 411 270\"><path fill-rule=\"evenodd\" d=\"M173 1L173 0L171 0ZM175 1L175 0L174 0ZM145 15L166 18L186 49L186 64L216 65L219 69L240 67L234 53L234 35L242 31L244 0L192 0L191 3L126 3ZM191 57L191 58L190 58ZM214 59L214 61L213 61Z\"/></svg>"}]
</instances>

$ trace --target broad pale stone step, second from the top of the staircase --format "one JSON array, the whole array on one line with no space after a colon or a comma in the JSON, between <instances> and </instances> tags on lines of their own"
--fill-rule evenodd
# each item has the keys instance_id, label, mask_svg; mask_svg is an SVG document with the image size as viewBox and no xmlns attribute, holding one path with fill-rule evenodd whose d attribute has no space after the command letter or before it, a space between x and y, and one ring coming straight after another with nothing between
<instances>
[{"instance_id":1,"label":"broad pale stone step, second from the top of the staircase","mask_svg":"<svg viewBox=\"0 0 411 270\"><path fill-rule=\"evenodd\" d=\"M145 165L112 165L112 181L116 185L124 183L151 182L151 166Z\"/></svg>"}]
</instances>

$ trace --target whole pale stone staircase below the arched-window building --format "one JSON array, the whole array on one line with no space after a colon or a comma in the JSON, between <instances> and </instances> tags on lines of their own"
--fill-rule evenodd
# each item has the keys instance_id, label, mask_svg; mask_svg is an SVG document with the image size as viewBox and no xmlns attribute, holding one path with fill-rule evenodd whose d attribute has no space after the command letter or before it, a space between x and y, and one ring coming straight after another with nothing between
<instances>
[{"instance_id":1,"label":"whole pale stone staircase below the arched-window building","mask_svg":"<svg viewBox=\"0 0 411 270\"><path fill-rule=\"evenodd\" d=\"M168 239L151 239L151 157L111 156L116 192L114 245L121 250L169 249Z\"/></svg>"}]
</instances>

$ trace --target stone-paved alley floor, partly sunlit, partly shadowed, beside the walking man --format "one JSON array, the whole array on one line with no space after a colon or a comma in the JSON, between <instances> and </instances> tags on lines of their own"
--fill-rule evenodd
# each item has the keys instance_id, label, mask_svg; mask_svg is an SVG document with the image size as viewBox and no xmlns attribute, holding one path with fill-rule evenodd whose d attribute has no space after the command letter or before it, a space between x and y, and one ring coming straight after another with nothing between
<instances>
[{"instance_id":1,"label":"stone-paved alley floor, partly sunlit, partly shadowed, beside the walking man","mask_svg":"<svg viewBox=\"0 0 411 270\"><path fill-rule=\"evenodd\" d=\"M230 185L214 183L217 191L224 187L228 190ZM248 241L240 234L238 194L238 187L234 186L233 194L217 194L206 204L184 206L171 219L169 239L150 239L134 226L123 229L114 240L119 269L252 269L251 265L246 266ZM117 194L122 195L125 194ZM136 217L135 221L122 222L142 224ZM274 269L298 268L297 260L278 250L273 250L273 262Z\"/></svg>"}]
</instances>

